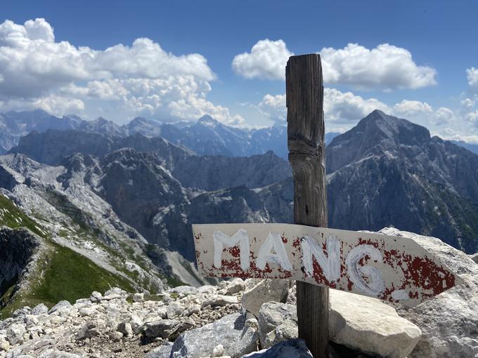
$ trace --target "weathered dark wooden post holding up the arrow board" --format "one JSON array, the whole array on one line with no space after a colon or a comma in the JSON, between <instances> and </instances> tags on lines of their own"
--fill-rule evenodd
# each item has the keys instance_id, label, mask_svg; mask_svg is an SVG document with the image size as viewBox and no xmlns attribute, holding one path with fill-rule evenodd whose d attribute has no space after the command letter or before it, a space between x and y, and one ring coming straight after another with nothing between
<instances>
[{"instance_id":1,"label":"weathered dark wooden post holding up the arrow board","mask_svg":"<svg viewBox=\"0 0 478 358\"><path fill-rule=\"evenodd\" d=\"M294 221L327 227L323 79L320 55L289 58L285 68L289 162L294 176ZM299 338L314 358L327 357L328 288L296 281Z\"/></svg>"}]
</instances>

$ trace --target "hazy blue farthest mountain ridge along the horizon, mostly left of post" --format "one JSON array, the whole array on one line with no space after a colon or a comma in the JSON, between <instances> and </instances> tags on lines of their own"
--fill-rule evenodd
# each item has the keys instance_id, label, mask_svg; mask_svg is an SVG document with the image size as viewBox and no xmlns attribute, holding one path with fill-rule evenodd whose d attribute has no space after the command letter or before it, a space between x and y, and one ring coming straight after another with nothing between
<instances>
[{"instance_id":1,"label":"hazy blue farthest mountain ridge along the horizon, mostly left of post","mask_svg":"<svg viewBox=\"0 0 478 358\"><path fill-rule=\"evenodd\" d=\"M198 155L222 155L225 157L250 157L272 150L287 159L287 128L271 126L269 128L244 129L221 124L210 116L198 121L180 121L161 123L143 117L137 117L128 124L119 126L113 121L99 117L93 121L84 121L77 116L58 118L47 112L7 112L0 114L0 154L4 154L20 142L20 138L32 131L44 133L49 130L80 131L106 135L108 138L126 138L131 135L143 135L148 138L162 137L181 147L187 147ZM339 133L327 133L329 142Z\"/></svg>"}]
</instances>

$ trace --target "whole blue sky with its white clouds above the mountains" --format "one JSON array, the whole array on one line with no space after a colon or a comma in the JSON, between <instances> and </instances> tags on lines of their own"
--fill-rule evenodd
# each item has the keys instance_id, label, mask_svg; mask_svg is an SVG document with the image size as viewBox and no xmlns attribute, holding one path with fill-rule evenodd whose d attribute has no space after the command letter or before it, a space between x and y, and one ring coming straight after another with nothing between
<instances>
[{"instance_id":1,"label":"whole blue sky with its white clouds above the mountains","mask_svg":"<svg viewBox=\"0 0 478 358\"><path fill-rule=\"evenodd\" d=\"M328 130L379 107L478 141L477 14L477 1L8 2L0 110L283 124L283 62L328 48Z\"/></svg>"}]
</instances>

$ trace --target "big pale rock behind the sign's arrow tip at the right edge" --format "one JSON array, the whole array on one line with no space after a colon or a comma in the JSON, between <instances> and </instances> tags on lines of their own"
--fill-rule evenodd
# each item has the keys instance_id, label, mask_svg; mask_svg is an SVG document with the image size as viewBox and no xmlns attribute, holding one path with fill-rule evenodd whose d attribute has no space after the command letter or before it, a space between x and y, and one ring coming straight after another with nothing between
<instances>
[{"instance_id":1,"label":"big pale rock behind the sign's arrow tip at the right edge","mask_svg":"<svg viewBox=\"0 0 478 358\"><path fill-rule=\"evenodd\" d=\"M475 357L478 354L478 265L462 251L434 237L394 228L382 234L409 237L463 279L463 283L412 308L398 307L401 317L422 330L409 358Z\"/></svg>"}]
</instances>

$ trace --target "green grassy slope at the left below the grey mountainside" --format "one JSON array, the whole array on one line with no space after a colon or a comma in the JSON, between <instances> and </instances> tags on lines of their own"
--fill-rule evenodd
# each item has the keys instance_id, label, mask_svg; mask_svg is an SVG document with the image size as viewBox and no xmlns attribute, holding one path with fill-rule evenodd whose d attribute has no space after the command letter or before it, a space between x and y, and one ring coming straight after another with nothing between
<instances>
[{"instance_id":1,"label":"green grassy slope at the left below the grey mountainside","mask_svg":"<svg viewBox=\"0 0 478 358\"><path fill-rule=\"evenodd\" d=\"M0 195L0 226L13 229L26 227L44 239L46 251L41 253L37 267L30 276L30 288L12 298L15 284L6 288L0 298L0 319L8 317L14 310L29 305L45 303L52 307L60 300L75 303L78 298L89 297L92 291L104 292L110 287L134 291L131 282L99 267L89 258L51 241L49 233L34 220L22 213L12 201ZM8 304L7 304L8 303Z\"/></svg>"}]
</instances>

